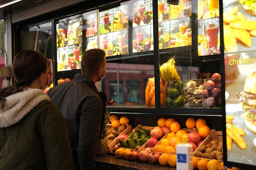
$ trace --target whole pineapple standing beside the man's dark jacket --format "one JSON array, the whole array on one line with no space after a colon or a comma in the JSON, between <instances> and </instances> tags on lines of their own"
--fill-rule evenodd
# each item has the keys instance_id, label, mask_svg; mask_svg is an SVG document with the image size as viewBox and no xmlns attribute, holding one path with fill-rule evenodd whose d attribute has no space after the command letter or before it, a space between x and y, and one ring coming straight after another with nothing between
<instances>
[{"instance_id":1,"label":"whole pineapple standing beside the man's dark jacket","mask_svg":"<svg viewBox=\"0 0 256 170\"><path fill-rule=\"evenodd\" d=\"M110 111L106 109L102 132L101 132L101 140L99 142L99 148L97 151L97 156L103 156L103 155L106 155L107 153L107 150L108 150L107 126L108 126L109 120L110 120Z\"/></svg>"}]
</instances>

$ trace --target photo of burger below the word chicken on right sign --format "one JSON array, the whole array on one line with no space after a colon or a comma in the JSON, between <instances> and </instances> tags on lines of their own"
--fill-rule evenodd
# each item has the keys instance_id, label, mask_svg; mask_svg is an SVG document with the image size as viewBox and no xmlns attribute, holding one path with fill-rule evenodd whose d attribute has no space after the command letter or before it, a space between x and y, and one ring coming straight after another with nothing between
<instances>
[{"instance_id":1,"label":"photo of burger below the word chicken on right sign","mask_svg":"<svg viewBox=\"0 0 256 170\"><path fill-rule=\"evenodd\" d=\"M244 91L237 93L238 100L242 102L245 110L241 117L245 120L245 125L256 134L256 72L247 76Z\"/></svg>"}]
</instances>

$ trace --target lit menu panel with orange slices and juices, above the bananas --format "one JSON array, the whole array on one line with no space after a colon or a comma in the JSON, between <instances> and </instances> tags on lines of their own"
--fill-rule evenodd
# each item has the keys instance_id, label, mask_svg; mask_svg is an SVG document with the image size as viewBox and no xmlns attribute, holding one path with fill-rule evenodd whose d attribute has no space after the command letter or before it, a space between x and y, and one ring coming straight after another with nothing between
<instances>
[{"instance_id":1,"label":"lit menu panel with orange slices and juices, above the bananas","mask_svg":"<svg viewBox=\"0 0 256 170\"><path fill-rule=\"evenodd\" d=\"M191 42L191 4L182 0L178 5L158 0L159 49L190 46Z\"/></svg>"}]
</instances>

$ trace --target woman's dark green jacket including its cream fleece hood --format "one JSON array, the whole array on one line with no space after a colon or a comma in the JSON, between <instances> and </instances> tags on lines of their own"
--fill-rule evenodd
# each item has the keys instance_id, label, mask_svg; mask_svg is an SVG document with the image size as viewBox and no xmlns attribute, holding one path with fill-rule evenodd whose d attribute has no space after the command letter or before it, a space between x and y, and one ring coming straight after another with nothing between
<instances>
[{"instance_id":1,"label":"woman's dark green jacket including its cream fleece hood","mask_svg":"<svg viewBox=\"0 0 256 170\"><path fill-rule=\"evenodd\" d=\"M65 119L45 92L27 89L5 99L0 170L73 170Z\"/></svg>"}]
</instances>

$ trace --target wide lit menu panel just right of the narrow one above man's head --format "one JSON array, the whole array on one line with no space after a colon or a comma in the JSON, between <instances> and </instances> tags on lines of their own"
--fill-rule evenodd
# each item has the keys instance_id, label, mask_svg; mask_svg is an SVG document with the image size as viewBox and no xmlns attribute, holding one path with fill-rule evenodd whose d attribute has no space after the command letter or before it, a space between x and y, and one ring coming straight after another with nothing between
<instances>
[{"instance_id":1,"label":"wide lit menu panel just right of the narrow one above man's head","mask_svg":"<svg viewBox=\"0 0 256 170\"><path fill-rule=\"evenodd\" d=\"M100 49L106 57L128 54L128 4L99 12Z\"/></svg>"}]
</instances>

